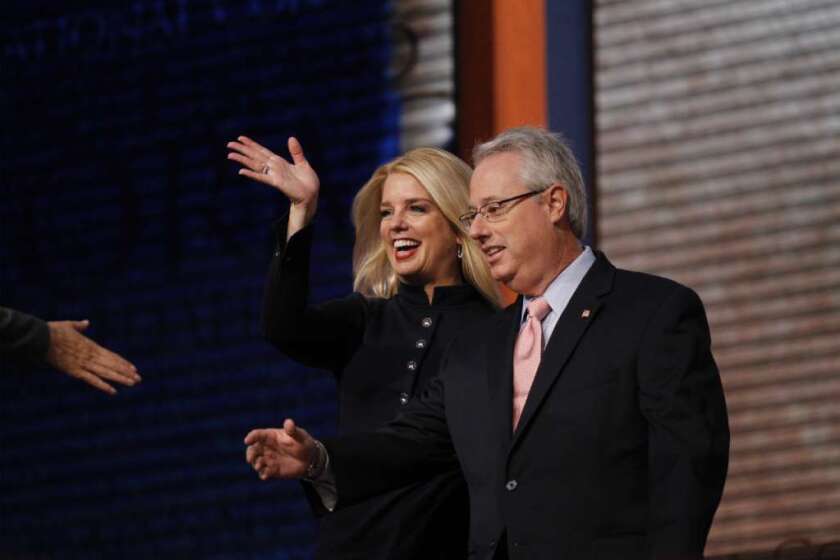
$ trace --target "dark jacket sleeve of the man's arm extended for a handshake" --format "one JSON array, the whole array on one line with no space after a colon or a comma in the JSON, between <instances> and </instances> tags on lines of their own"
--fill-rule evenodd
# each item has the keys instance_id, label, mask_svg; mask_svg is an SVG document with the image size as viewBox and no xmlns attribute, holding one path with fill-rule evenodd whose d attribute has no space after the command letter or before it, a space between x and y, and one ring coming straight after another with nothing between
<instances>
[{"instance_id":1,"label":"dark jacket sleeve of the man's arm extended for a handshake","mask_svg":"<svg viewBox=\"0 0 840 560\"><path fill-rule=\"evenodd\" d=\"M335 475L337 507L457 468L444 393L443 379L435 377L381 430L324 440Z\"/></svg>"}]
</instances>

